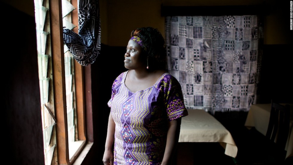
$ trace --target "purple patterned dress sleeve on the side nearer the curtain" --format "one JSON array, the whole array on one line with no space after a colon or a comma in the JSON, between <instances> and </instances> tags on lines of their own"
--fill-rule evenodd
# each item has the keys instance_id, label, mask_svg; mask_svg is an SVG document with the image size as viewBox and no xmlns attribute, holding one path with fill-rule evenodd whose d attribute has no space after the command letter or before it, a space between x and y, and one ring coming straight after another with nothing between
<instances>
[{"instance_id":1,"label":"purple patterned dress sleeve on the side nearer the curtain","mask_svg":"<svg viewBox=\"0 0 293 165\"><path fill-rule=\"evenodd\" d=\"M184 98L181 85L178 80L168 74L163 78L164 81L164 98L167 108L168 119L175 120L188 115L184 104Z\"/></svg>"}]
</instances>

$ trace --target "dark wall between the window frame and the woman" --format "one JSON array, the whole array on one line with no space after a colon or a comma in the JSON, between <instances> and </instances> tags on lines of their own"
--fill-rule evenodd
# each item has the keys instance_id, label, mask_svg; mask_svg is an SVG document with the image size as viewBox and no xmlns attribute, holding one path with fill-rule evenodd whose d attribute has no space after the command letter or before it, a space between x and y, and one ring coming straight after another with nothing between
<instances>
[{"instance_id":1,"label":"dark wall between the window frame and the woman","mask_svg":"<svg viewBox=\"0 0 293 165\"><path fill-rule=\"evenodd\" d=\"M112 84L123 71L125 47L101 45L100 54L91 64L92 111L94 129L94 147L86 156L83 164L103 165L105 140L110 108L107 102L111 98Z\"/></svg>"}]
</instances>

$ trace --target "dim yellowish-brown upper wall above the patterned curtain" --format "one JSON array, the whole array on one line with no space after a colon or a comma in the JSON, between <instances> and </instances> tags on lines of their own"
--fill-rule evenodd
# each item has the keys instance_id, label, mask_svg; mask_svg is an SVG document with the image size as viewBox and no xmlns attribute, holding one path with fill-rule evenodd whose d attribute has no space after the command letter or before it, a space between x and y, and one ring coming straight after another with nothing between
<instances>
[{"instance_id":1,"label":"dim yellowish-brown upper wall above the patterned curtain","mask_svg":"<svg viewBox=\"0 0 293 165\"><path fill-rule=\"evenodd\" d=\"M283 18L283 4L277 0L100 0L102 43L109 46L126 46L130 32L139 27L152 26L165 35L165 19L161 16L161 4L172 6L259 5L268 4L265 16L264 44L292 43L289 19ZM286 4L285 4L286 5ZM289 2L288 7L289 8ZM288 15L289 16L289 15ZM285 24L288 27L284 28Z\"/></svg>"}]
</instances>

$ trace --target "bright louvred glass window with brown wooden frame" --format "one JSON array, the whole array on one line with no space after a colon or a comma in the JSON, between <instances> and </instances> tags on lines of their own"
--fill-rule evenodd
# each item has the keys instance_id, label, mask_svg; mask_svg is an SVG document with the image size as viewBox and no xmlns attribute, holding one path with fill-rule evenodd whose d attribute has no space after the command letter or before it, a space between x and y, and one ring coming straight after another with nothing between
<instances>
[{"instance_id":1,"label":"bright louvred glass window with brown wooden frame","mask_svg":"<svg viewBox=\"0 0 293 165\"><path fill-rule=\"evenodd\" d=\"M71 20L76 7L70 0L34 3L45 164L69 165L86 144L83 68L62 43L63 26L76 27Z\"/></svg>"}]
</instances>

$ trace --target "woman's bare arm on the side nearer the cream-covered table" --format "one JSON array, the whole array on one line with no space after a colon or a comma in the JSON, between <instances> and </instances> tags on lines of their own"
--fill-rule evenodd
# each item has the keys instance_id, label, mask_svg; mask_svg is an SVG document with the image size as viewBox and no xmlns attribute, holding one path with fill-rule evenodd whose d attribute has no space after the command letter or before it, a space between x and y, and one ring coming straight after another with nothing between
<instances>
[{"instance_id":1,"label":"woman's bare arm on the side nearer the cream-covered table","mask_svg":"<svg viewBox=\"0 0 293 165\"><path fill-rule=\"evenodd\" d=\"M180 133L181 118L169 122L167 143L164 158L161 165L170 165L175 155Z\"/></svg>"}]
</instances>

